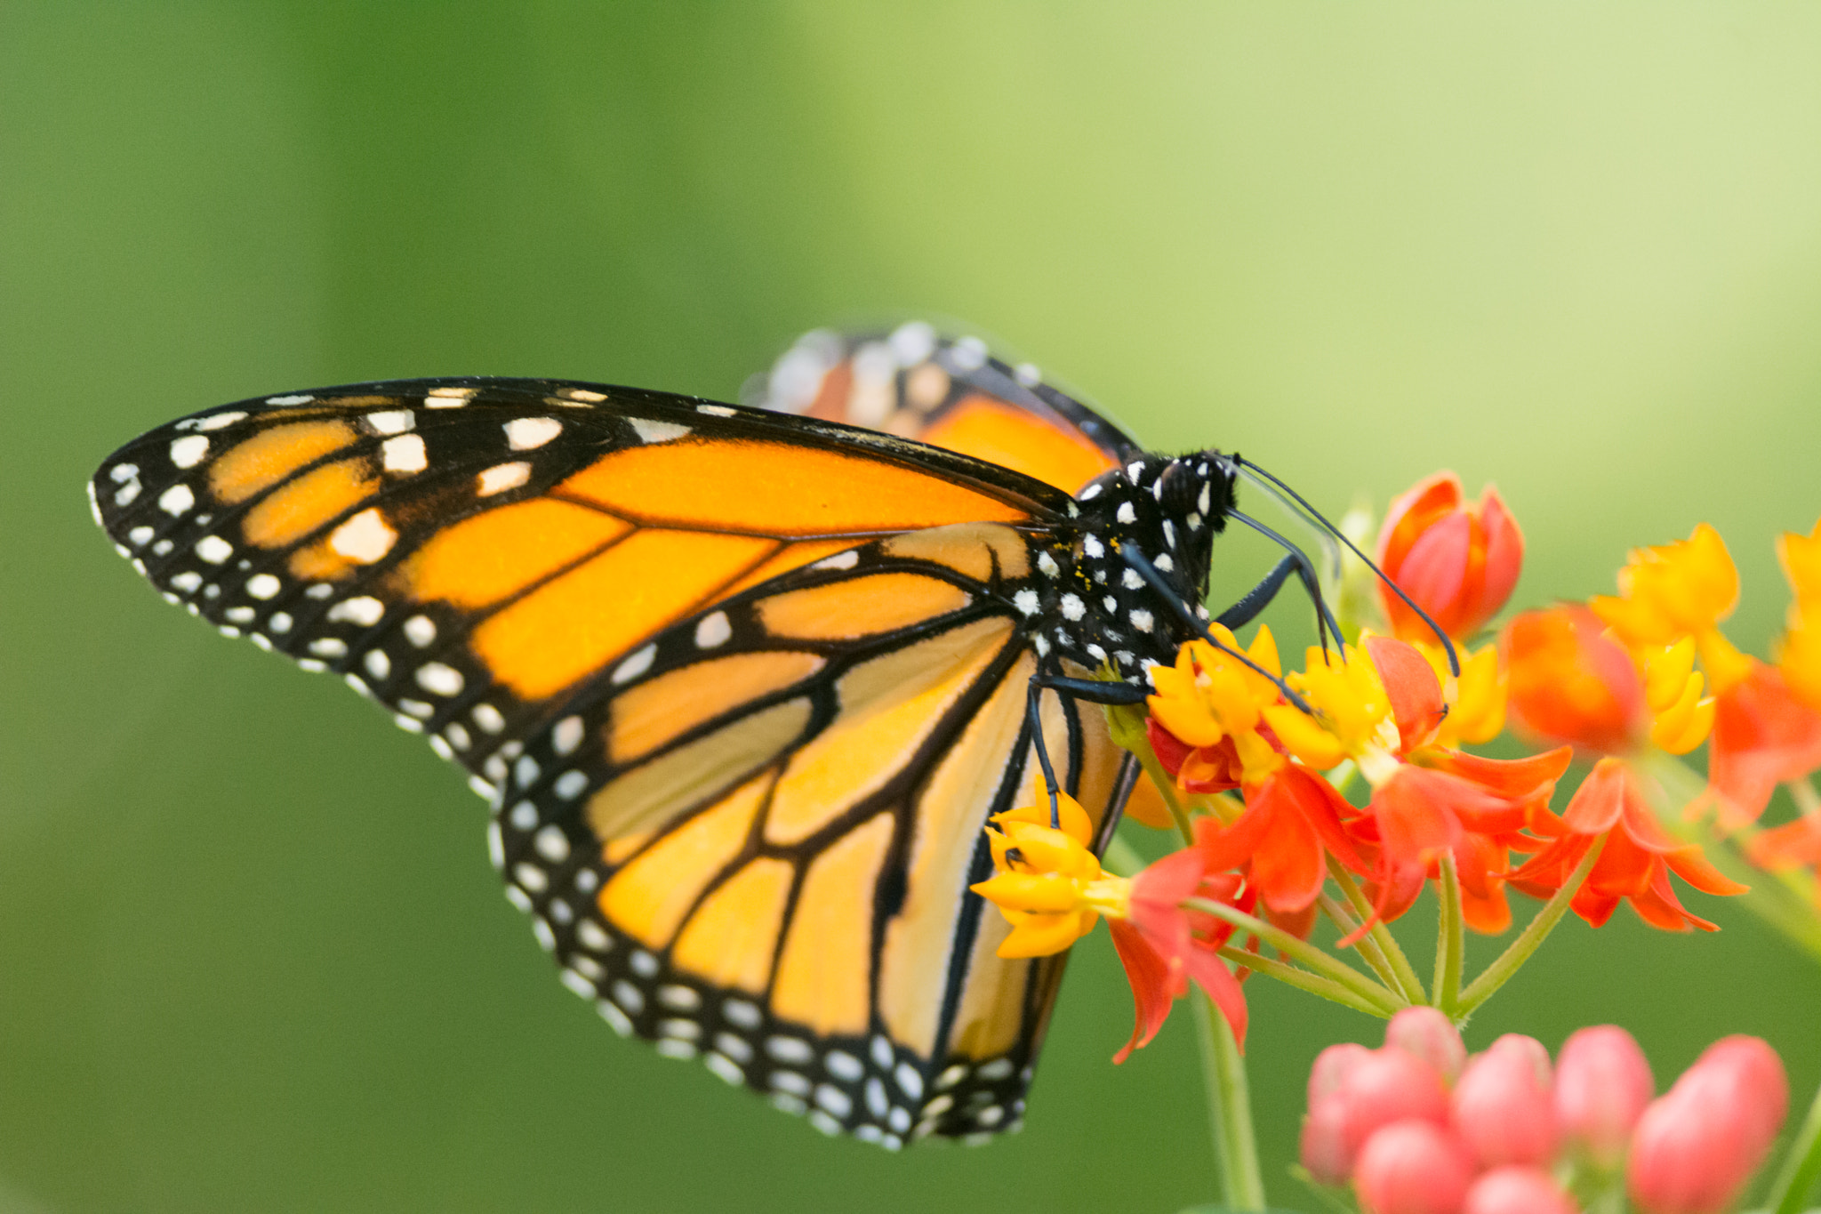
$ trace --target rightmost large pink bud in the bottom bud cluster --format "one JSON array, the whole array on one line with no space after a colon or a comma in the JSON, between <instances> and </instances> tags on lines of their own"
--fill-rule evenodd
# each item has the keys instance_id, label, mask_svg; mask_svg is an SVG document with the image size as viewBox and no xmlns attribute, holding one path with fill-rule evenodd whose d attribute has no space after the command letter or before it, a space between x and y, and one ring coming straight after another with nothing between
<instances>
[{"instance_id":1,"label":"rightmost large pink bud in the bottom bud cluster","mask_svg":"<svg viewBox=\"0 0 1821 1214\"><path fill-rule=\"evenodd\" d=\"M1719 1214L1765 1161L1786 1112L1775 1052L1757 1037L1715 1041L1639 1118L1632 1201L1648 1214Z\"/></svg>"}]
</instances>

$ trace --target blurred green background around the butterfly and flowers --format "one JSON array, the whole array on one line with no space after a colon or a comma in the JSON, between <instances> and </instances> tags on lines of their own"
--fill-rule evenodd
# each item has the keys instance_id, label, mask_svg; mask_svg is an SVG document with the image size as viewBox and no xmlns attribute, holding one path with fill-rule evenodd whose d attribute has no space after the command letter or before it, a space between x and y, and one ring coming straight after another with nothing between
<instances>
[{"instance_id":1,"label":"blurred green background around the butterfly and flowers","mask_svg":"<svg viewBox=\"0 0 1821 1214\"><path fill-rule=\"evenodd\" d=\"M1710 519L1761 650L1772 535L1821 513L1821 9L0 5L0 1209L1213 1198L1187 1017L1114 1070L1104 936L980 1150L827 1141L615 1039L455 770L166 608L84 504L118 442L255 393L727 399L912 313L1335 511L1495 479L1524 601ZM1570 921L1470 1045L1623 1021L1666 1081L1757 1032L1806 1099L1821 972L1690 901L1726 930ZM1251 997L1273 1198L1309 1209L1307 1063L1378 1028Z\"/></svg>"}]
</instances>

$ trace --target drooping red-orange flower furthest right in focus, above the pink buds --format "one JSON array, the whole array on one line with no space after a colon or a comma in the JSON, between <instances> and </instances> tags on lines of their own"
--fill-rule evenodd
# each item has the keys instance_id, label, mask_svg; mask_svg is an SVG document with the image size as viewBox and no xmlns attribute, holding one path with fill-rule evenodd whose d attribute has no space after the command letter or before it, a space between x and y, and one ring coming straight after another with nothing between
<instances>
[{"instance_id":1,"label":"drooping red-orange flower furthest right in focus, above the pink buds","mask_svg":"<svg viewBox=\"0 0 1821 1214\"><path fill-rule=\"evenodd\" d=\"M1570 903L1592 926L1604 925L1623 899L1653 928L1715 930L1675 899L1672 872L1704 894L1746 890L1721 875L1701 855L1699 846L1664 834L1650 812L1639 775L1623 759L1606 757L1593 764L1553 828L1561 832L1557 839L1513 872L1510 881L1526 894L1548 897L1562 888L1593 841L1604 837L1604 850Z\"/></svg>"}]
</instances>

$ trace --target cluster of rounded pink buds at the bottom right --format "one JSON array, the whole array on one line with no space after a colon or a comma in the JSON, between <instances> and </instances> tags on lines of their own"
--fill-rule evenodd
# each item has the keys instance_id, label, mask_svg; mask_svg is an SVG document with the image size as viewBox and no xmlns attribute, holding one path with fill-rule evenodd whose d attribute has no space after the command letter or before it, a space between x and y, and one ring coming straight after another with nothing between
<instances>
[{"instance_id":1,"label":"cluster of rounded pink buds at the bottom right","mask_svg":"<svg viewBox=\"0 0 1821 1214\"><path fill-rule=\"evenodd\" d=\"M1351 1183L1369 1214L1573 1214L1610 1205L1621 1183L1646 1214L1726 1210L1788 1110L1781 1059L1726 1037L1653 1090L1615 1025L1575 1032L1551 1067L1517 1034L1468 1057L1448 1017L1409 1008L1382 1048L1315 1059L1302 1167Z\"/></svg>"}]
</instances>

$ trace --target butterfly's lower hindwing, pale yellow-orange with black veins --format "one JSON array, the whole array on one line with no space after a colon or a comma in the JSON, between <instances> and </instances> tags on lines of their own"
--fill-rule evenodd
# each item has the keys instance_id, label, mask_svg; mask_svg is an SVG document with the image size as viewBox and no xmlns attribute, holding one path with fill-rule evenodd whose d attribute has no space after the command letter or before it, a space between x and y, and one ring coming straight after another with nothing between
<instances>
[{"instance_id":1,"label":"butterfly's lower hindwing, pale yellow-orange with black veins","mask_svg":"<svg viewBox=\"0 0 1821 1214\"><path fill-rule=\"evenodd\" d=\"M1036 770L1025 546L967 524L798 570L719 604L712 655L685 621L528 739L493 855L565 983L829 1132L1014 1125L1060 959L994 956L1005 923L967 885ZM1042 715L1104 821L1098 710Z\"/></svg>"}]
</instances>

